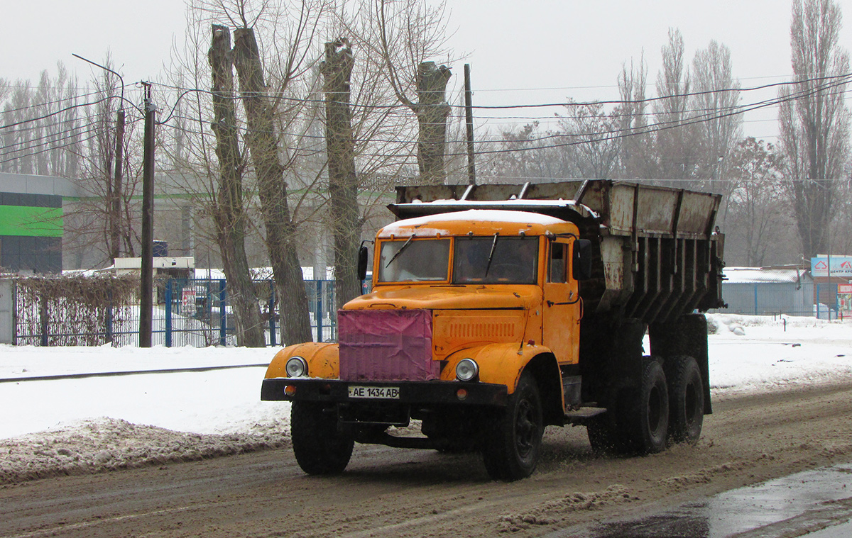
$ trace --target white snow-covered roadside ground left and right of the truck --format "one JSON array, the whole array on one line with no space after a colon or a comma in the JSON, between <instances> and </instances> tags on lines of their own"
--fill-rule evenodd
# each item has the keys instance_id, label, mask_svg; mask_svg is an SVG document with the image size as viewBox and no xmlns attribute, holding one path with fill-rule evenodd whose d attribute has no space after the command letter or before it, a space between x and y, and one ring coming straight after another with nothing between
<instances>
[{"instance_id":1,"label":"white snow-covered roadside ground left and right of the truck","mask_svg":"<svg viewBox=\"0 0 852 538\"><path fill-rule=\"evenodd\" d=\"M852 382L852 323L708 317L714 398ZM786 330L785 330L786 329ZM261 402L275 350L0 346L0 484L288 443L290 407ZM28 377L245 366L25 381ZM18 381L20 380L20 381Z\"/></svg>"}]
</instances>

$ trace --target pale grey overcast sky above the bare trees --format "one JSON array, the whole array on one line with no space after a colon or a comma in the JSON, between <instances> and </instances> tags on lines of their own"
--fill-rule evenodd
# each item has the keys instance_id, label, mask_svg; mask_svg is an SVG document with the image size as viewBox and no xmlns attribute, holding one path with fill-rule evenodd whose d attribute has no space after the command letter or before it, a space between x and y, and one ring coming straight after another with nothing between
<instances>
[{"instance_id":1,"label":"pale grey overcast sky above the bare trees","mask_svg":"<svg viewBox=\"0 0 852 538\"><path fill-rule=\"evenodd\" d=\"M54 74L58 60L86 79L89 66L71 54L98 61L107 50L126 82L156 79L185 26L181 0L3 4L0 77L33 83L43 69ZM843 45L852 48L852 0L839 4L847 21ZM622 63L638 61L642 51L653 85L669 27L682 31L690 61L716 39L731 49L744 88L778 82L791 73L790 6L790 0L447 0L449 45L465 56L451 66L453 83L462 82L466 61L477 105L612 99ZM743 102L773 95L744 94ZM771 139L774 117L774 111L747 116L745 133Z\"/></svg>"}]
</instances>

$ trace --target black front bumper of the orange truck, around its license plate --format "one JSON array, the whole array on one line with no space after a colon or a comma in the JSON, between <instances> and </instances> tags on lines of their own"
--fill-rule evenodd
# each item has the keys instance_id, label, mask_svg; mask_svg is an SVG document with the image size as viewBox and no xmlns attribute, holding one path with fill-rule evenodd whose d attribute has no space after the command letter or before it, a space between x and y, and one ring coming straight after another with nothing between
<instances>
[{"instance_id":1,"label":"black front bumper of the orange truck, around its license plate","mask_svg":"<svg viewBox=\"0 0 852 538\"><path fill-rule=\"evenodd\" d=\"M285 387L295 387L292 395ZM349 386L394 386L400 398L349 398ZM458 398L458 390L467 394ZM458 404L505 407L509 391L504 385L492 383L463 383L461 381L340 381L329 379L293 379L276 377L263 380L262 400L286 400L323 403L403 403L407 405Z\"/></svg>"}]
</instances>

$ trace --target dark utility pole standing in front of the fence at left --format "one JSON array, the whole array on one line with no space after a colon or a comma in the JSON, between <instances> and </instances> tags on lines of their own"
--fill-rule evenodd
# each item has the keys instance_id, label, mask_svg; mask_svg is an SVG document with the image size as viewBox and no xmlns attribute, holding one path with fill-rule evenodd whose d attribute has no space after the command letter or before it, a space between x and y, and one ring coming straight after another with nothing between
<instances>
[{"instance_id":1,"label":"dark utility pole standing in front of the fence at left","mask_svg":"<svg viewBox=\"0 0 852 538\"><path fill-rule=\"evenodd\" d=\"M139 290L139 346L151 347L153 316L154 125L157 107L151 83L145 87L145 136L142 150L142 260Z\"/></svg>"}]
</instances>

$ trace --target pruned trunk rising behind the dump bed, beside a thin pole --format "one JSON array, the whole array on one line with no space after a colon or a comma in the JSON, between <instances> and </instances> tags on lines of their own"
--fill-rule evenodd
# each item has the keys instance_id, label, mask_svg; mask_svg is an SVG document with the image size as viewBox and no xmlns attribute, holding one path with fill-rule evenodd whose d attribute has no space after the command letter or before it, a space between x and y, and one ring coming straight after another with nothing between
<instances>
[{"instance_id":1,"label":"pruned trunk rising behind the dump bed, beside a thin pole","mask_svg":"<svg viewBox=\"0 0 852 538\"><path fill-rule=\"evenodd\" d=\"M423 183L443 183L446 179L444 154L446 148L446 83L452 77L447 66L436 67L434 61L417 66L417 164Z\"/></svg>"}]
</instances>

